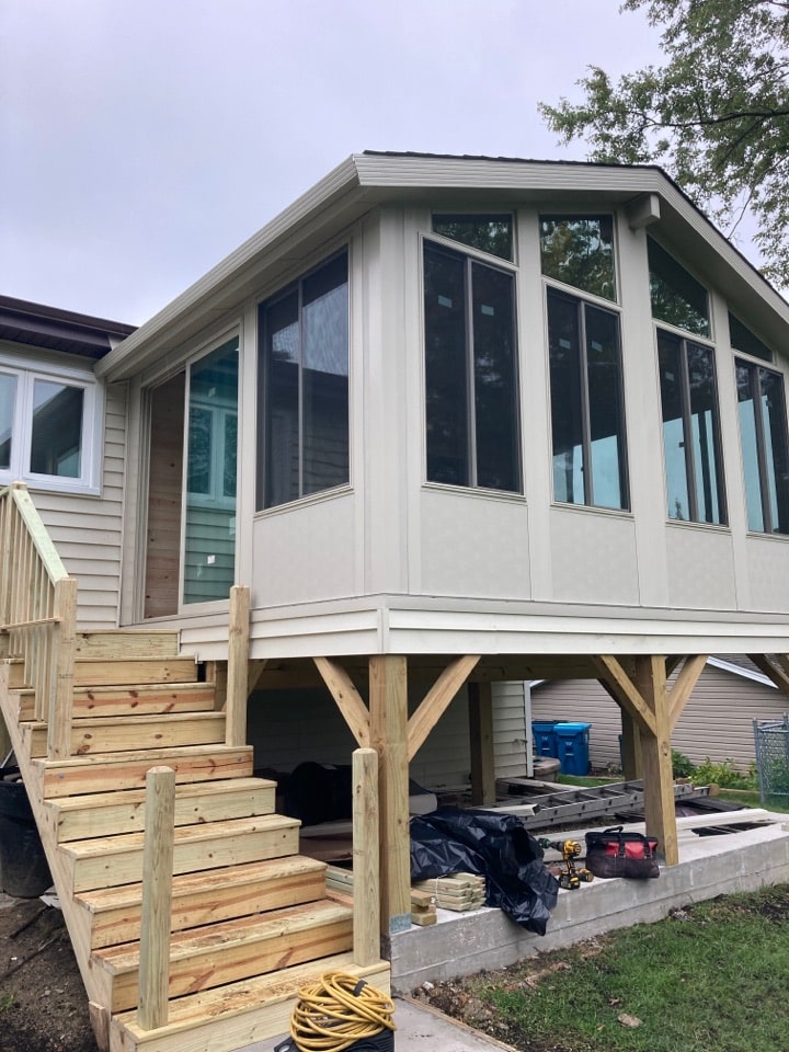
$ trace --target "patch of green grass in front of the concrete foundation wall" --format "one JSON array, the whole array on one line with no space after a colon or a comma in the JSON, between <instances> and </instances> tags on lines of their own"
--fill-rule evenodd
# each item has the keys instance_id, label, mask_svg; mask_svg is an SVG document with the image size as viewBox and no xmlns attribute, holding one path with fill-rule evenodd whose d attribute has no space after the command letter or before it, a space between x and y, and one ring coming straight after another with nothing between
<instances>
[{"instance_id":1,"label":"patch of green grass in front of the concrete foundation wall","mask_svg":"<svg viewBox=\"0 0 789 1052\"><path fill-rule=\"evenodd\" d=\"M788 975L785 884L699 903L465 986L482 1018L496 1020L494 1036L515 1048L778 1052L789 1049ZM622 1015L640 1025L625 1026Z\"/></svg>"}]
</instances>

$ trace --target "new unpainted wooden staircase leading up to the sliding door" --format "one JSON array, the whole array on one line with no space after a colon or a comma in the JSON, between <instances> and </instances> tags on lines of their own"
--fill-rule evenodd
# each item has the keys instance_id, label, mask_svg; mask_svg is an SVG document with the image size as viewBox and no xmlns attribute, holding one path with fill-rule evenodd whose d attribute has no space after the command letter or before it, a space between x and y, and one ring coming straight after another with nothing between
<instances>
[{"instance_id":1,"label":"new unpainted wooden staircase leading up to the sliding door","mask_svg":"<svg viewBox=\"0 0 789 1052\"><path fill-rule=\"evenodd\" d=\"M77 633L70 747L48 758L25 664L0 661L0 707L110 1052L232 1052L283 1033L297 992L330 971L389 990L386 961L354 963L353 910L275 813L252 748L226 742L215 685L172 632ZM138 1018L151 767L175 771L167 1022Z\"/></svg>"}]
</instances>

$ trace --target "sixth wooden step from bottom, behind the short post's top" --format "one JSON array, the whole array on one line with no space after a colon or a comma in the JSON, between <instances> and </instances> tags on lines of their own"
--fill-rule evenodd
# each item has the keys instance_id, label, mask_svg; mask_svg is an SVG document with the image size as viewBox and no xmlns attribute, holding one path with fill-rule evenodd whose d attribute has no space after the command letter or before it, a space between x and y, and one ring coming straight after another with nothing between
<instances>
[{"instance_id":1,"label":"sixth wooden step from bottom, behind the short post's top","mask_svg":"<svg viewBox=\"0 0 789 1052\"><path fill-rule=\"evenodd\" d=\"M135 750L110 756L96 753L71 759L34 761L32 778L45 798L66 797L83 792L112 792L115 789L136 789L145 786L146 774L155 763L167 764L175 770L175 784L204 781L215 778L249 776L253 768L251 745L232 748L229 745L193 745L150 752Z\"/></svg>"}]
</instances>

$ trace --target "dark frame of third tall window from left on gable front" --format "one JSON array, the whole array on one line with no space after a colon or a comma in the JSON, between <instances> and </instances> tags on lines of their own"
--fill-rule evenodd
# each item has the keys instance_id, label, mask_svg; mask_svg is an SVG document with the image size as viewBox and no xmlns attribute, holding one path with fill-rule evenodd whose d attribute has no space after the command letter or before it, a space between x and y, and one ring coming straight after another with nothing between
<instances>
[{"instance_id":1,"label":"dark frame of third tall window from left on gable front","mask_svg":"<svg viewBox=\"0 0 789 1052\"><path fill-rule=\"evenodd\" d=\"M663 471L665 477L666 484L666 512L667 521L670 523L689 523L694 526L717 526L717 527L728 527L729 525L729 507L727 500L727 488L725 488L725 469L723 464L723 443L721 436L721 413L720 413L720 397L719 397L719 385L718 385L718 369L717 369L717 355L714 345L711 343L706 343L699 340L698 338L693 338L693 334L686 334L687 330L678 329L672 330L665 328L664 323L655 322L655 345L656 345L656 358L658 358L658 386L660 392L661 401L661 423L662 423L662 443L663 443ZM660 361L661 352L661 332L663 332L670 340L677 341L679 350L679 400L682 403L682 426L683 426L683 450L684 450L684 464L685 464L685 483L687 489L687 501L688 501L688 519L676 518L671 515L668 510L668 468L667 468L667 458L666 458L666 448L665 448L665 415L663 412L663 377L662 368ZM709 353L712 362L712 379L713 379L713 396L714 396L714 420L713 420L713 434L712 434L712 451L713 451L713 462L716 468L716 496L718 506L720 510L719 522L710 522L709 519L701 518L699 516L699 502L698 502L698 479L696 471L696 446L694 444L694 428L693 428L693 407L690 399L690 364L688 361L688 346L694 345L699 347L702 351ZM690 438L690 441L688 441Z\"/></svg>"}]
</instances>

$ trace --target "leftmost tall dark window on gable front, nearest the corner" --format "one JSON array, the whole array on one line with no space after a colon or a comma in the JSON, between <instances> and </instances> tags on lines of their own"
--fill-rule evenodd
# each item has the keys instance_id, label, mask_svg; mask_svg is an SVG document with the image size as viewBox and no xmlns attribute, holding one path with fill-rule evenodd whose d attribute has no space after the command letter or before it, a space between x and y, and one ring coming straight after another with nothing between
<instances>
[{"instance_id":1,"label":"leftmost tall dark window on gable front, nearest the corner","mask_svg":"<svg viewBox=\"0 0 789 1052\"><path fill-rule=\"evenodd\" d=\"M425 242L427 479L518 492L510 272Z\"/></svg>"}]
</instances>

